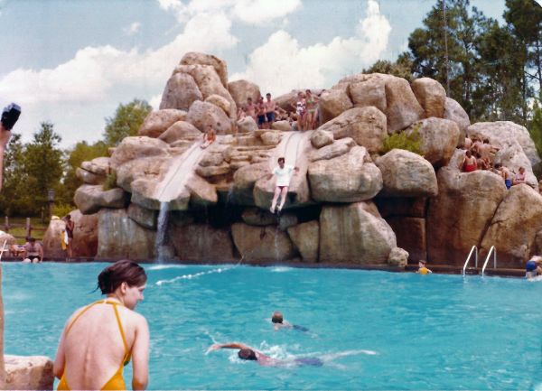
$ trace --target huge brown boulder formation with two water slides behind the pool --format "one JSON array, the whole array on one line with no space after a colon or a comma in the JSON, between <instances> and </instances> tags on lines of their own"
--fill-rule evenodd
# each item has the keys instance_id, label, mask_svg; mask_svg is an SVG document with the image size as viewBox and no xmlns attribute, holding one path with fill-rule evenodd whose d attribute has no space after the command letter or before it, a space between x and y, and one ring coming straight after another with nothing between
<instances>
[{"instance_id":1,"label":"huge brown boulder formation with two water slides behind the pool","mask_svg":"<svg viewBox=\"0 0 542 391\"><path fill-rule=\"evenodd\" d=\"M297 92L275 97L277 106L292 112ZM92 244L78 253L153 258L158 232L171 256L201 262L462 265L473 245L497 245L502 265L520 266L542 247L537 191L507 191L495 173L458 169L465 134L488 138L500 148L495 162L513 171L524 166L536 184L532 165L540 158L524 127L471 125L427 78L410 84L360 73L313 93L320 98L317 130L295 132L288 121L258 129L253 118L237 118L238 107L261 96L257 84L229 81L226 63L212 55L185 54L139 135L110 157L81 164L85 184L75 201L89 219L77 216ZM218 138L201 150L208 125ZM421 155L382 150L400 132L419 135ZM278 157L298 169L280 217L267 211ZM113 174L117 188L104 190ZM159 223L161 213L169 213L167 224ZM51 232L59 224L51 223Z\"/></svg>"}]
</instances>

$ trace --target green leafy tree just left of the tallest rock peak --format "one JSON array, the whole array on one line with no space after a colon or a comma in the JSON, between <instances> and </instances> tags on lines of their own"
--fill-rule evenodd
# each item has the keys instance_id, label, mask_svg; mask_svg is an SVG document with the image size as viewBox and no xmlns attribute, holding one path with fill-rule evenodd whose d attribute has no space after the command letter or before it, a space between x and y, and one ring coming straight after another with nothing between
<instances>
[{"instance_id":1,"label":"green leafy tree just left of the tallest rock peak","mask_svg":"<svg viewBox=\"0 0 542 391\"><path fill-rule=\"evenodd\" d=\"M143 124L153 107L145 100L134 99L126 105L120 104L115 111L115 116L106 118L106 131L104 139L107 145L115 146L129 135L137 135L137 131Z\"/></svg>"}]
</instances>

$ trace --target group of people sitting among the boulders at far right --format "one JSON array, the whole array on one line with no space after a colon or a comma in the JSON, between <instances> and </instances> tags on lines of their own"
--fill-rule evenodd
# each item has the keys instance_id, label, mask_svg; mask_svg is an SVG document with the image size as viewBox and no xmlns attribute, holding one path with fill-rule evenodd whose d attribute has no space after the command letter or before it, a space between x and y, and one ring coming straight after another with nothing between
<instances>
[{"instance_id":1,"label":"group of people sitting among the boulders at far right","mask_svg":"<svg viewBox=\"0 0 542 391\"><path fill-rule=\"evenodd\" d=\"M494 172L502 177L507 189L512 186L528 183L525 167L519 167L518 172L512 172L509 168L500 163L494 163L494 154L499 151L499 148L491 145L490 140L478 137L466 137L463 145L465 154L463 161L460 164L460 169L463 172L474 172L477 170L487 170Z\"/></svg>"}]
</instances>

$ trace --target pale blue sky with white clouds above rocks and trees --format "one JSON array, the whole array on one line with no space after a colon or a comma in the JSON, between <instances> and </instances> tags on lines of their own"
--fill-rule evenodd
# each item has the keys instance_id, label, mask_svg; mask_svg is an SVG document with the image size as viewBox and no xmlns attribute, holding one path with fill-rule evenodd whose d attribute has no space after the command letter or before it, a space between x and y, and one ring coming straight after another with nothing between
<instances>
[{"instance_id":1,"label":"pale blue sky with white clouds above rocks and trees","mask_svg":"<svg viewBox=\"0 0 542 391\"><path fill-rule=\"evenodd\" d=\"M538 1L538 0L537 0ZM542 0L541 0L542 1ZM504 0L472 0L501 20ZM158 108L187 51L228 63L229 80L262 93L329 88L394 60L435 0L0 0L0 106L42 121L61 146L102 138L106 117L134 98Z\"/></svg>"}]
</instances>

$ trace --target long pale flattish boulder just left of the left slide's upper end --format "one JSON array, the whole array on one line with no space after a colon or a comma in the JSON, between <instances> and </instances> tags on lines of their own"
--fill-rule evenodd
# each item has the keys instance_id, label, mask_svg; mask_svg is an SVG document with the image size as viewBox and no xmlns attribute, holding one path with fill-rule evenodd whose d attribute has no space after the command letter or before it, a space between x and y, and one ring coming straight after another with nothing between
<instances>
[{"instance_id":1,"label":"long pale flattish boulder just left of the left slide's upper end","mask_svg":"<svg viewBox=\"0 0 542 391\"><path fill-rule=\"evenodd\" d=\"M119 165L130 160L149 156L168 156L168 149L169 145L157 138L146 136L125 137L111 155L111 167L117 170Z\"/></svg>"}]
</instances>

